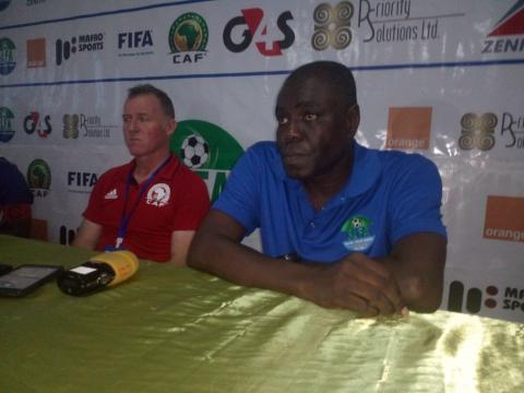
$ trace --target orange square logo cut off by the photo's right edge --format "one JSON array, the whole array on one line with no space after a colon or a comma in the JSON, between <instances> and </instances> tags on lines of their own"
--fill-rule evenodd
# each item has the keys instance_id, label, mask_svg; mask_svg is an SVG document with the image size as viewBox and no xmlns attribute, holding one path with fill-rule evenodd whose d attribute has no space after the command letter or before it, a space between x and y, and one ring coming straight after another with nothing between
<instances>
[{"instance_id":1,"label":"orange square logo cut off by the photo's right edge","mask_svg":"<svg viewBox=\"0 0 524 393\"><path fill-rule=\"evenodd\" d=\"M488 195L484 237L524 242L524 198Z\"/></svg>"}]
</instances>

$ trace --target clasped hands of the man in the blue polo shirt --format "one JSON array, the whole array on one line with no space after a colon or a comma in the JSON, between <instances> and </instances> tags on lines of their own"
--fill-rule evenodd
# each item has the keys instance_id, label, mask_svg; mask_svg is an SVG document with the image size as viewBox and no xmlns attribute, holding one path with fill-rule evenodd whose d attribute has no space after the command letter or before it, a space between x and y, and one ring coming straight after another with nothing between
<instances>
[{"instance_id":1,"label":"clasped hands of the man in the blue polo shirt","mask_svg":"<svg viewBox=\"0 0 524 393\"><path fill-rule=\"evenodd\" d=\"M362 317L403 312L396 281L382 263L352 253L335 264L315 267L301 297L322 307L352 309Z\"/></svg>"}]
</instances>

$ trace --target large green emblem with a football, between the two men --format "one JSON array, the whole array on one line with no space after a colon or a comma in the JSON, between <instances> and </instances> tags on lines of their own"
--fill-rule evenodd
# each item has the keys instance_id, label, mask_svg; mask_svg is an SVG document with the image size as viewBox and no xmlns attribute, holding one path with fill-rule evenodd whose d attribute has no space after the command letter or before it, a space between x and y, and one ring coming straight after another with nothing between
<instances>
[{"instance_id":1,"label":"large green emblem with a football, between the two men","mask_svg":"<svg viewBox=\"0 0 524 393\"><path fill-rule=\"evenodd\" d=\"M202 120L178 123L171 151L207 184L214 202L243 148L227 131Z\"/></svg>"}]
</instances>

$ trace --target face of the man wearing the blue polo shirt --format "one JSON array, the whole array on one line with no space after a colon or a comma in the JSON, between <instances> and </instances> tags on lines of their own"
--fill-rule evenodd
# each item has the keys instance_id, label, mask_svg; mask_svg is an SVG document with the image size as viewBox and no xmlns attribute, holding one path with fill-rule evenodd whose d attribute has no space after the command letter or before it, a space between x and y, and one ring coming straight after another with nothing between
<instances>
[{"instance_id":1,"label":"face of the man wearing the blue polo shirt","mask_svg":"<svg viewBox=\"0 0 524 393\"><path fill-rule=\"evenodd\" d=\"M358 105L345 104L336 88L309 76L282 87L275 116L276 142L287 175L301 180L313 200L314 194L325 200L344 187L360 120Z\"/></svg>"}]
</instances>

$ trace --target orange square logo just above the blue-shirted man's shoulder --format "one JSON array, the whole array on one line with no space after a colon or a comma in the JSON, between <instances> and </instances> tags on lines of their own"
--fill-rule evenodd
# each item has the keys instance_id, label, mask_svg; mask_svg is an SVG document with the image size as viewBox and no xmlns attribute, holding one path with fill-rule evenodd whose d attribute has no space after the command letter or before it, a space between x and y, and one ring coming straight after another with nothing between
<instances>
[{"instance_id":1,"label":"orange square logo just above the blue-shirted man's shoulder","mask_svg":"<svg viewBox=\"0 0 524 393\"><path fill-rule=\"evenodd\" d=\"M431 112L431 107L390 107L385 146L403 150L429 148Z\"/></svg>"}]
</instances>

